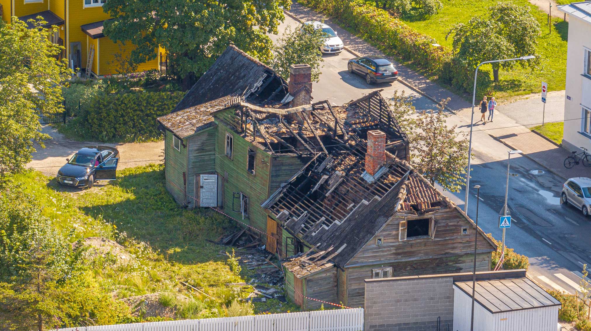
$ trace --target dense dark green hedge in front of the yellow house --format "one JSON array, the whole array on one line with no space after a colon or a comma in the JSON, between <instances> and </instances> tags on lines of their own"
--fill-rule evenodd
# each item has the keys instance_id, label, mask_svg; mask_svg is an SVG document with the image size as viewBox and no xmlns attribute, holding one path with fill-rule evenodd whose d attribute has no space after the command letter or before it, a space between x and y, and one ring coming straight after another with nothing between
<instances>
[{"instance_id":1,"label":"dense dark green hedge in front of the yellow house","mask_svg":"<svg viewBox=\"0 0 591 331\"><path fill-rule=\"evenodd\" d=\"M170 114L184 92L97 95L67 124L96 141L147 141L160 137L156 118Z\"/></svg>"}]
</instances>

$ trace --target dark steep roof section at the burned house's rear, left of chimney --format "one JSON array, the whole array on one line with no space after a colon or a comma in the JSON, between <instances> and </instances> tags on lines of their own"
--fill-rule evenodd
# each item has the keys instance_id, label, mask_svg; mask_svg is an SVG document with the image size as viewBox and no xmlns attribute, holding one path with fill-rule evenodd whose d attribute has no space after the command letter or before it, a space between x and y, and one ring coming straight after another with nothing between
<instances>
[{"instance_id":1,"label":"dark steep roof section at the burned house's rear, left of chimney","mask_svg":"<svg viewBox=\"0 0 591 331\"><path fill-rule=\"evenodd\" d=\"M226 96L243 97L254 104L281 101L287 82L267 65L230 45L203 74L173 112Z\"/></svg>"}]
</instances>

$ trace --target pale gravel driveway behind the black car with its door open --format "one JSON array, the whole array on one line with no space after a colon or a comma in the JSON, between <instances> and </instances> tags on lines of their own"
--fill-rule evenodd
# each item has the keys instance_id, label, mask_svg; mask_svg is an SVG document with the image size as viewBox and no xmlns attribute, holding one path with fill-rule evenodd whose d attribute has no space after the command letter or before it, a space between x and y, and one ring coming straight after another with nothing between
<instances>
[{"instance_id":1,"label":"pale gravel driveway behind the black car with its door open","mask_svg":"<svg viewBox=\"0 0 591 331\"><path fill-rule=\"evenodd\" d=\"M88 145L105 145L117 148L120 154L118 169L157 163L164 160L164 141L121 144L74 141L64 138L64 135L58 133L51 125L43 125L41 132L51 135L53 139L44 141L46 148L41 148L35 144L37 151L33 153L33 160L27 164L27 168L35 168L46 176L55 176L57 170L66 163L66 158L71 157L80 148Z\"/></svg>"}]
</instances>

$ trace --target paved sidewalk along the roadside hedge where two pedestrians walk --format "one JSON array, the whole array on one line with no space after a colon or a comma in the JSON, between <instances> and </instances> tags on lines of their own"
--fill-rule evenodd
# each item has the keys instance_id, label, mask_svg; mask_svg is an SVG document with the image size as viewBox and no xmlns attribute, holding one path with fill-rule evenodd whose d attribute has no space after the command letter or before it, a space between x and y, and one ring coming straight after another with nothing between
<instances>
[{"instance_id":1,"label":"paved sidewalk along the roadside hedge where two pedestrians walk","mask_svg":"<svg viewBox=\"0 0 591 331\"><path fill-rule=\"evenodd\" d=\"M322 21L329 24L339 37L343 40L343 43L351 51L356 52L360 55L365 54L382 54L379 49L373 47L363 39L351 34L349 31L339 27L335 20L328 18L323 14L314 11L313 9L307 8L306 6L300 5L294 2L291 5L289 13L301 21ZM442 100L444 98L450 98L451 101L448 104L450 110L454 111L457 117L462 118L463 121L470 123L470 112L472 111L472 104L463 100L459 95L456 95L443 87L440 87L434 82L429 81L426 77L420 73L413 71L404 65L401 65L392 58L389 58L400 72L400 77L405 80L408 84L417 88L428 97L434 100ZM560 98L560 92L557 97ZM523 101L514 102L514 107L519 107ZM506 104L503 107L510 107L511 104ZM475 110L475 121L480 118L480 112ZM487 114L488 116L488 114ZM495 140L501 141L509 148L521 150L524 152L525 157L534 160L540 164L541 167L545 168L542 170L549 170L562 178L571 177L591 177L591 168L584 168L582 165L575 166L571 169L564 168L564 159L570 155L570 152L564 150L564 148L558 147L551 143L544 137L532 133L527 127L519 124L516 120L521 121L521 118L511 118L501 111L495 112L495 121L492 123L476 123L474 131L483 131L490 135ZM525 123L524 123L525 124ZM458 131L466 132L470 130L470 125L460 125L457 128Z\"/></svg>"}]
</instances>

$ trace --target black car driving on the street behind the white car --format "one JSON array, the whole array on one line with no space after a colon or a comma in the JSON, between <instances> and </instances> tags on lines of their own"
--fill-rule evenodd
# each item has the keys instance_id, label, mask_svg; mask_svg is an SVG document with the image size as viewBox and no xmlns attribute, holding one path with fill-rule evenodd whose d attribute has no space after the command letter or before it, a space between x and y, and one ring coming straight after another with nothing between
<instances>
[{"instance_id":1,"label":"black car driving on the street behind the white car","mask_svg":"<svg viewBox=\"0 0 591 331\"><path fill-rule=\"evenodd\" d=\"M393 82L398 79L398 70L392 62L381 55L352 58L347 64L348 71L363 75L368 84Z\"/></svg>"}]
</instances>

